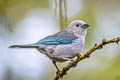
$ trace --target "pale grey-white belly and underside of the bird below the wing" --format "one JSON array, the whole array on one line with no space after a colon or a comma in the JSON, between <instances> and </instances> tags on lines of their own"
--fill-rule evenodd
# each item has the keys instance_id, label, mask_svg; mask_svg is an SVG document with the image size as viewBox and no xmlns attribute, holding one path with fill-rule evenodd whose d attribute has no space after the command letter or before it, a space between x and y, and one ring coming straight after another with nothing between
<instances>
[{"instance_id":1,"label":"pale grey-white belly and underside of the bird below the wing","mask_svg":"<svg viewBox=\"0 0 120 80\"><path fill-rule=\"evenodd\" d=\"M63 62L72 59L77 53L80 53L84 47L84 39L77 39L72 44L48 45L44 51L38 49L41 53L47 55L50 59Z\"/></svg>"}]
</instances>

